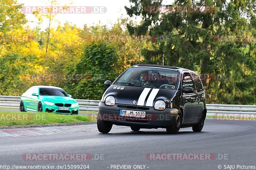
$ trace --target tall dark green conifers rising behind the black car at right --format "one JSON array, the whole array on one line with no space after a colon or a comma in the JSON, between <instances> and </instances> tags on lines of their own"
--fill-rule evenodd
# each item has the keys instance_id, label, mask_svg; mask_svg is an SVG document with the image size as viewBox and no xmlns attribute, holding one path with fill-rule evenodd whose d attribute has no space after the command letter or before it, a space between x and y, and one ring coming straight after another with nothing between
<instances>
[{"instance_id":1,"label":"tall dark green conifers rising behind the black car at right","mask_svg":"<svg viewBox=\"0 0 256 170\"><path fill-rule=\"evenodd\" d=\"M127 14L141 16L142 24L128 26L130 33L140 32L141 26L158 37L154 49L142 50L146 63L175 65L198 73L218 75L220 78L202 79L209 103L255 104L255 43L252 41L223 42L223 37L251 35L255 37L254 0L174 1L169 9L157 17L158 7L145 10L161 0L130 0ZM172 11L181 7L205 7L209 11ZM185 8L185 9L186 9ZM132 27L132 28L129 28ZM144 31L143 33L145 33ZM217 38L216 38L217 37ZM248 83L246 83L248 82Z\"/></svg>"}]
</instances>

